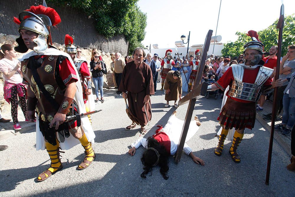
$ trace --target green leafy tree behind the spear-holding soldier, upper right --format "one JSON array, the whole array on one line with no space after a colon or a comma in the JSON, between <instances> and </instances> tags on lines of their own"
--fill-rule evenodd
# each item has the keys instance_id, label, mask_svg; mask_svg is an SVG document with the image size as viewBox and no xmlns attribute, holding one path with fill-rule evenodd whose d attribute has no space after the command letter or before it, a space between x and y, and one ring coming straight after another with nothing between
<instances>
[{"instance_id":1,"label":"green leafy tree behind the spear-holding soldier, upper right","mask_svg":"<svg viewBox=\"0 0 295 197\"><path fill-rule=\"evenodd\" d=\"M278 29L276 25L278 19L264 30L258 31L259 40L264 45L264 51L268 51L271 46L278 45ZM235 42L224 44L221 50L223 56L239 56L244 51L244 44L251 41L246 32L236 32L238 39ZM285 17L283 27L282 56L286 55L288 46L295 43L295 14Z\"/></svg>"}]
</instances>

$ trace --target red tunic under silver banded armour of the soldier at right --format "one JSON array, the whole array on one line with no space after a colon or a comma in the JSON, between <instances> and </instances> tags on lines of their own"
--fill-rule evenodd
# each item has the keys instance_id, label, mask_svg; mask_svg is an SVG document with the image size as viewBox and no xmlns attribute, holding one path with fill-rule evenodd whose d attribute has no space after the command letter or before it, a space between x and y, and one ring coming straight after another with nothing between
<instances>
[{"instance_id":1,"label":"red tunic under silver banded armour of the soldier at right","mask_svg":"<svg viewBox=\"0 0 295 197\"><path fill-rule=\"evenodd\" d=\"M253 70L245 68L243 82L253 84L258 74L259 68L260 67L257 67L256 69L253 69ZM215 85L217 85L217 87L219 87L220 89L224 91L227 88L227 86L234 80L235 78L234 78L234 75L232 74L232 67L230 67L229 69L227 69L227 71L225 71L222 77L217 82L215 82ZM268 78L263 85L271 85L271 78ZM228 91L226 95L227 97L230 97L228 95ZM242 100L242 99L238 99L234 97L230 97L230 98L238 102L245 102L245 103L253 102L253 101Z\"/></svg>"}]
</instances>

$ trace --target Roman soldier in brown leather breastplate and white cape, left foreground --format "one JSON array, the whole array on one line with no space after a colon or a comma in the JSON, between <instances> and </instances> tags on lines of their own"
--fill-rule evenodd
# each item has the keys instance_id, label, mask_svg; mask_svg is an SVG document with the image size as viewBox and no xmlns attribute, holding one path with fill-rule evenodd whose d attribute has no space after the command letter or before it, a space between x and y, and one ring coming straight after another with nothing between
<instances>
[{"instance_id":1,"label":"Roman soldier in brown leather breastplate and white cape, left foreground","mask_svg":"<svg viewBox=\"0 0 295 197\"><path fill-rule=\"evenodd\" d=\"M50 26L61 22L58 13L50 7L31 6L14 17L19 24L19 44L15 50L25 53L19 58L24 80L28 82L26 118L36 124L36 149L46 149L51 164L37 181L46 180L60 170L59 150L70 149L80 143L85 158L78 169L85 169L95 158L92 149L95 134L88 118L64 122L66 115L86 113L78 71L71 57L50 44ZM75 139L76 138L76 139ZM78 140L77 140L78 139Z\"/></svg>"}]
</instances>

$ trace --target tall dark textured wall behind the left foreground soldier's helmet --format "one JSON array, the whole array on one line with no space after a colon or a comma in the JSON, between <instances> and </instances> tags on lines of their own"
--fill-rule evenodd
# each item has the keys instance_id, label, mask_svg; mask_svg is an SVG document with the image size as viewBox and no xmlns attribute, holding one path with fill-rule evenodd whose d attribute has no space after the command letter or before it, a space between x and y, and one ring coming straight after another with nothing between
<instances>
[{"instance_id":1,"label":"tall dark textured wall behind the left foreground soldier's helmet","mask_svg":"<svg viewBox=\"0 0 295 197\"><path fill-rule=\"evenodd\" d=\"M18 25L13 22L13 17L18 17L31 5L39 4L42 4L41 0L1 0L0 33L18 35ZM65 34L69 34L74 37L74 44L83 48L97 48L106 53L120 52L123 56L127 54L128 42L124 35L106 39L97 33L93 19L89 19L83 11L47 5L54 8L61 18L57 28L52 28L53 42L64 43Z\"/></svg>"}]
</instances>

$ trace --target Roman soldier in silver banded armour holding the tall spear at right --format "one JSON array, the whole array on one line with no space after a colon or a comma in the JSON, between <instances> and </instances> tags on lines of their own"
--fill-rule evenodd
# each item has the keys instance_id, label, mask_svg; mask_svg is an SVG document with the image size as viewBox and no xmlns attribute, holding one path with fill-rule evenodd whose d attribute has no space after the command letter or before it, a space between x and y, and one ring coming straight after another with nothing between
<instances>
[{"instance_id":1,"label":"Roman soldier in silver banded armour holding the tall spear at right","mask_svg":"<svg viewBox=\"0 0 295 197\"><path fill-rule=\"evenodd\" d=\"M261 93L271 87L278 87L283 84L281 79L271 83L270 76L273 69L263 66L264 62L261 60L263 44L258 41L257 32L251 30L247 35L251 37L252 41L244 45L245 63L232 64L217 82L207 88L208 91L214 91L218 88L224 91L229 86L229 90L226 92L227 97L225 97L226 102L217 118L222 126L222 131L214 153L217 156L222 154L224 140L229 130L235 128L230 154L232 160L236 163L241 161L237 154L237 147L242 141L245 128L254 128L255 105Z\"/></svg>"}]
</instances>

